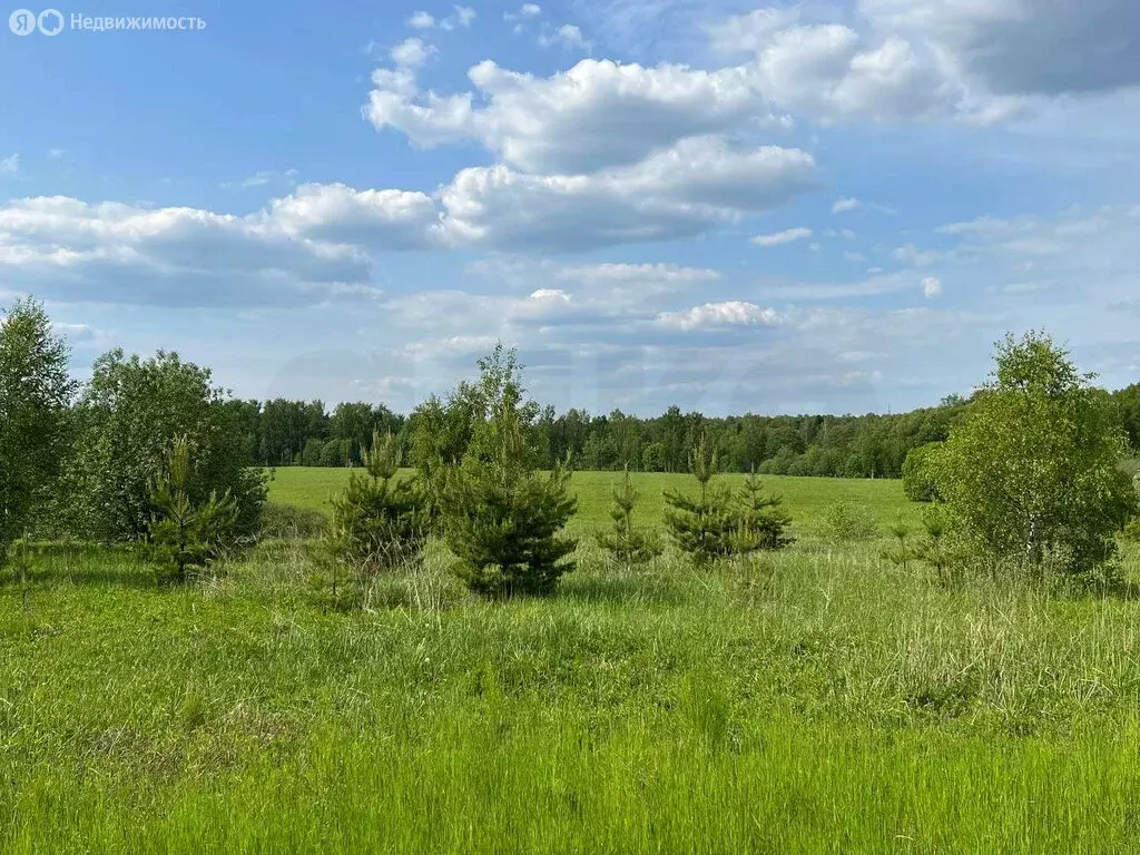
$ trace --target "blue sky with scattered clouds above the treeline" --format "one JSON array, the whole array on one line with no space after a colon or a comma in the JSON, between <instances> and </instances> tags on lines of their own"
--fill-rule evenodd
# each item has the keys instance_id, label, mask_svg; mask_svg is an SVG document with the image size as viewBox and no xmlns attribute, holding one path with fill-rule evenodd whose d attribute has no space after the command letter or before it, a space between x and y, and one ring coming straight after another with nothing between
<instances>
[{"instance_id":1,"label":"blue sky with scattered clouds above the treeline","mask_svg":"<svg viewBox=\"0 0 1140 855\"><path fill-rule=\"evenodd\" d=\"M1135 0L58 10L0 31L0 306L80 377L408 412L502 340L559 409L901 412L1034 328L1140 381Z\"/></svg>"}]
</instances>

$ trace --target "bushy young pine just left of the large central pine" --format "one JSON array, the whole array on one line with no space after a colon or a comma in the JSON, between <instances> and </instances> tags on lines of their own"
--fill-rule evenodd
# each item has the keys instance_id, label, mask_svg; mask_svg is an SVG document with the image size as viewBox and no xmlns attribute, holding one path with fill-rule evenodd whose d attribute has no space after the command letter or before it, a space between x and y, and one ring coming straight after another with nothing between
<instances>
[{"instance_id":1,"label":"bushy young pine just left of the large central pine","mask_svg":"<svg viewBox=\"0 0 1140 855\"><path fill-rule=\"evenodd\" d=\"M424 502L416 484L396 478L404 448L396 437L373 434L356 471L333 499L331 543L358 579L413 564L423 556Z\"/></svg>"}]
</instances>

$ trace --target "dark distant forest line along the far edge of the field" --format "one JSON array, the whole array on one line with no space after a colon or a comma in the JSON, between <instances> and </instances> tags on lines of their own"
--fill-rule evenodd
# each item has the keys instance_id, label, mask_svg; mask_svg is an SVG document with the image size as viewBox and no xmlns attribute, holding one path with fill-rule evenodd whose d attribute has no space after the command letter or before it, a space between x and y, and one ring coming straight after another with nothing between
<instances>
[{"instance_id":1,"label":"dark distant forest line along the far edge of the field","mask_svg":"<svg viewBox=\"0 0 1140 855\"><path fill-rule=\"evenodd\" d=\"M1112 393L1133 454L1140 454L1140 384ZM373 431L401 434L412 416L383 405L340 404L327 412L321 401L277 399L226 405L243 425L249 462L263 466L350 466ZM682 413L640 418L613 410L591 415L570 409L543 410L537 430L547 463L565 459L580 470L682 472L703 435L725 472L838 478L897 478L906 454L946 439L969 406L952 396L937 407L896 415L725 416Z\"/></svg>"}]
</instances>

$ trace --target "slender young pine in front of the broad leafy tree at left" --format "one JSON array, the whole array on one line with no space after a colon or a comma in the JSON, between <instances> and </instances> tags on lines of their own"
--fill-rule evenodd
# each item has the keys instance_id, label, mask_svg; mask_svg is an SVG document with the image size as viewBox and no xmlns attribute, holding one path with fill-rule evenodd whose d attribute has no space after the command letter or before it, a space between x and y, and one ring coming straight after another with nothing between
<instances>
[{"instance_id":1,"label":"slender young pine in front of the broad leafy tree at left","mask_svg":"<svg viewBox=\"0 0 1140 855\"><path fill-rule=\"evenodd\" d=\"M237 528L237 504L228 492L211 492L198 503L190 498L194 475L189 442L180 437L150 486L156 508L149 524L152 551L164 577L179 583L188 570L205 569L231 546Z\"/></svg>"}]
</instances>

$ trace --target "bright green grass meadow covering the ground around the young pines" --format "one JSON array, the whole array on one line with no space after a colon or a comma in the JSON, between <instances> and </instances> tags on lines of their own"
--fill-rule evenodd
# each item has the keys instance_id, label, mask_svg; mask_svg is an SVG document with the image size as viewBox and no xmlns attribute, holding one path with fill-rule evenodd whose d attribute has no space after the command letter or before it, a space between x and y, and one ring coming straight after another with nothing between
<instances>
[{"instance_id":1,"label":"bright green grass meadow covering the ground around the young pines","mask_svg":"<svg viewBox=\"0 0 1140 855\"><path fill-rule=\"evenodd\" d=\"M614 478L575 475L578 532ZM676 478L638 477L644 522ZM181 589L50 553L0 584L0 850L1140 848L1138 603L944 589L825 536L840 496L914 514L897 481L765 482L792 548L629 575L584 540L549 600L480 602L439 548L343 614L295 544Z\"/></svg>"}]
</instances>

